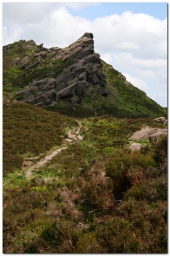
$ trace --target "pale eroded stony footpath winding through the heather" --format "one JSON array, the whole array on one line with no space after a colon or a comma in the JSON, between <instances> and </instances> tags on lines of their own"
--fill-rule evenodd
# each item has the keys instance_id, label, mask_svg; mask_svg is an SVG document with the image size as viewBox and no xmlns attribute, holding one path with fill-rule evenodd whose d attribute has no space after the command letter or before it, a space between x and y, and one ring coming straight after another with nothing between
<instances>
[{"instance_id":1,"label":"pale eroded stony footpath winding through the heather","mask_svg":"<svg viewBox=\"0 0 170 256\"><path fill-rule=\"evenodd\" d=\"M77 122L78 122L78 127L75 127L67 132L66 145L56 150L53 150L48 155L43 157L43 159L37 161L34 164L32 164L32 161L36 161L36 159L39 159L39 157L32 157L32 158L25 159L22 165L22 170L24 170L26 167L29 166L29 168L26 170L26 173L25 173L25 176L27 179L31 177L33 170L38 170L39 168L41 168L41 166L45 165L48 161L52 160L52 158L57 154L59 154L62 150L65 150L67 148L68 143L73 144L83 140L83 137L80 136L80 130L82 125L80 121L77 120Z\"/></svg>"}]
</instances>

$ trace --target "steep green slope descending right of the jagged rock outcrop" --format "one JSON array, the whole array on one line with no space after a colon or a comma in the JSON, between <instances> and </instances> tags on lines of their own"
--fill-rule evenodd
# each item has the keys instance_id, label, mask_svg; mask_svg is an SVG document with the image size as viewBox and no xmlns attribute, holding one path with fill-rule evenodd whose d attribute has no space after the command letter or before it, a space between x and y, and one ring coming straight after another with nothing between
<instances>
[{"instance_id":1,"label":"steep green slope descending right of the jagged rock outcrop","mask_svg":"<svg viewBox=\"0 0 170 256\"><path fill-rule=\"evenodd\" d=\"M139 90L125 80L125 77L115 70L111 65L103 61L104 74L107 77L108 88L111 91L113 103L119 111L129 115L159 116L167 115L166 109L162 108Z\"/></svg>"}]
</instances>

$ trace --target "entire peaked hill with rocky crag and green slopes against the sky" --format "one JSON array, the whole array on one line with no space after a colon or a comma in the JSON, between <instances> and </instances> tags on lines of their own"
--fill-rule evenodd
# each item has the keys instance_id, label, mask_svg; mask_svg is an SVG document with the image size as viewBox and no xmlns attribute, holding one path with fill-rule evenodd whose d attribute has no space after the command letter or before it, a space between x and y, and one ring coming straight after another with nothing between
<instances>
[{"instance_id":1,"label":"entire peaked hill with rocky crag and green slopes against the sky","mask_svg":"<svg viewBox=\"0 0 170 256\"><path fill-rule=\"evenodd\" d=\"M71 116L166 115L164 108L99 58L91 33L64 49L46 49L33 40L4 46L3 92L6 98Z\"/></svg>"}]
</instances>

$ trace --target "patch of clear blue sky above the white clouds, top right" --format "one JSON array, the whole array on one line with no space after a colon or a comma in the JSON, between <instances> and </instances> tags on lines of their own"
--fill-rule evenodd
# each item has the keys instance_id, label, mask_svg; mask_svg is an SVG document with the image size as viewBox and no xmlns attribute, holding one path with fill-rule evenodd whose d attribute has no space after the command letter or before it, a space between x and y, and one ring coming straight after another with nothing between
<instances>
[{"instance_id":1,"label":"patch of clear blue sky above the white clouds, top right","mask_svg":"<svg viewBox=\"0 0 170 256\"><path fill-rule=\"evenodd\" d=\"M72 8L69 10L73 15L80 15L90 20L113 13L121 15L127 10L132 13L146 13L160 20L167 17L167 3L99 3L80 10L73 10Z\"/></svg>"}]
</instances>

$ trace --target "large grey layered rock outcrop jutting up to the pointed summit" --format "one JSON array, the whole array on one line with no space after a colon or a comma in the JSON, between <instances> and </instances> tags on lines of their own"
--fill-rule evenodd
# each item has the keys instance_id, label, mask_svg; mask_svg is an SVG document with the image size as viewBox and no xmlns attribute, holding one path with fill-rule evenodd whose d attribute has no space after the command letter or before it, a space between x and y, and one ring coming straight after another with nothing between
<instances>
[{"instance_id":1,"label":"large grey layered rock outcrop jutting up to the pointed summit","mask_svg":"<svg viewBox=\"0 0 170 256\"><path fill-rule=\"evenodd\" d=\"M52 50L55 51L53 47ZM80 103L89 93L108 97L106 76L99 54L94 52L92 33L85 33L80 39L64 49L57 48L52 61L69 61L68 67L56 78L41 79L17 93L18 100L35 106L56 104L59 100ZM46 52L39 52L39 61L46 58ZM37 56L36 56L37 57ZM15 63L18 60L15 60ZM26 65L25 60L22 65ZM13 65L15 65L13 63Z\"/></svg>"}]
</instances>

